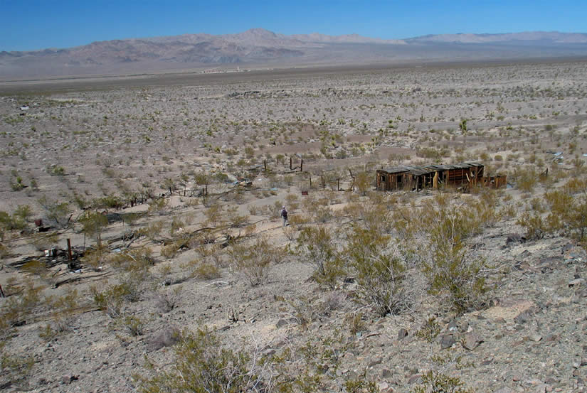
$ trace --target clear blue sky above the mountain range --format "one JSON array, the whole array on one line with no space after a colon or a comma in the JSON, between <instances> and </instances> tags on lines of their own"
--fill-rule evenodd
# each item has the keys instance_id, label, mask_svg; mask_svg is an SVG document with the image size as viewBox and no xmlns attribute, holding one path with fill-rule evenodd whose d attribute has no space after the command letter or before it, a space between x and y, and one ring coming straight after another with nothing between
<instances>
[{"instance_id":1,"label":"clear blue sky above the mountain range","mask_svg":"<svg viewBox=\"0 0 587 393\"><path fill-rule=\"evenodd\" d=\"M587 33L587 0L0 0L0 51L184 33Z\"/></svg>"}]
</instances>

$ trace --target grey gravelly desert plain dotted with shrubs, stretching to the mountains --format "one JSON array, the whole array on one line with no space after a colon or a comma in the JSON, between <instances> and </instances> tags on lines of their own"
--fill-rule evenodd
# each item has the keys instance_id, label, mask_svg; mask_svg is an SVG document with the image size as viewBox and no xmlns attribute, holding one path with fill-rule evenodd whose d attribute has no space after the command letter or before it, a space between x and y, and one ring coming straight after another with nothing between
<instances>
[{"instance_id":1,"label":"grey gravelly desert plain dotted with shrubs, stretching to the mountains","mask_svg":"<svg viewBox=\"0 0 587 393\"><path fill-rule=\"evenodd\" d=\"M0 82L0 387L585 391L586 75ZM470 161L507 187L375 189Z\"/></svg>"}]
</instances>

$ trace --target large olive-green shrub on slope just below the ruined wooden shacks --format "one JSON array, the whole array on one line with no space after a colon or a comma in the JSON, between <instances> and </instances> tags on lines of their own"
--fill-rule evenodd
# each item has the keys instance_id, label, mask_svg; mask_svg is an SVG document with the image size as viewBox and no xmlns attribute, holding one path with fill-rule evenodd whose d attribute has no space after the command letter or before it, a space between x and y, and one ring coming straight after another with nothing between
<instances>
[{"instance_id":1,"label":"large olive-green shrub on slope just below the ruined wooden shacks","mask_svg":"<svg viewBox=\"0 0 587 393\"><path fill-rule=\"evenodd\" d=\"M430 294L458 313L482 303L488 290L485 260L467 244L485 225L483 215L477 216L477 203L439 194L422 208L401 209L394 215L403 258L421 269Z\"/></svg>"}]
</instances>

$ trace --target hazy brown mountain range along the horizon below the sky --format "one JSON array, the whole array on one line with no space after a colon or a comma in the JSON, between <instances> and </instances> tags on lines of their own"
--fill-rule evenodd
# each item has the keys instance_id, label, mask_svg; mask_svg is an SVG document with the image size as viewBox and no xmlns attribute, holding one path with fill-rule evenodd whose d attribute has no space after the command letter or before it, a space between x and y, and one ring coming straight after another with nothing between
<instances>
[{"instance_id":1,"label":"hazy brown mountain range along the horizon below the sky","mask_svg":"<svg viewBox=\"0 0 587 393\"><path fill-rule=\"evenodd\" d=\"M3 80L115 75L191 68L242 68L413 61L587 56L587 34L529 31L441 34L384 40L356 34L285 36L262 28L212 36L132 38L64 49L0 52Z\"/></svg>"}]
</instances>

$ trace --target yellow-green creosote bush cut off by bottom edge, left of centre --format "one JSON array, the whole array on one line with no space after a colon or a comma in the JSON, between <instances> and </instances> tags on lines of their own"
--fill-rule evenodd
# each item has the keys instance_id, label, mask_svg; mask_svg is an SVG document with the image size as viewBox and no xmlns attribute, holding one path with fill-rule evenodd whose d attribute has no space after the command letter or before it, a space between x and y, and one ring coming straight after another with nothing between
<instances>
[{"instance_id":1,"label":"yellow-green creosote bush cut off by bottom edge, left of centre","mask_svg":"<svg viewBox=\"0 0 587 393\"><path fill-rule=\"evenodd\" d=\"M147 368L152 376L135 376L142 393L246 393L270 392L263 364L245 350L223 348L216 335L205 329L184 331L175 345L174 367Z\"/></svg>"}]
</instances>

